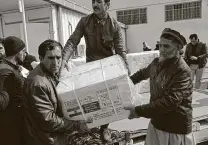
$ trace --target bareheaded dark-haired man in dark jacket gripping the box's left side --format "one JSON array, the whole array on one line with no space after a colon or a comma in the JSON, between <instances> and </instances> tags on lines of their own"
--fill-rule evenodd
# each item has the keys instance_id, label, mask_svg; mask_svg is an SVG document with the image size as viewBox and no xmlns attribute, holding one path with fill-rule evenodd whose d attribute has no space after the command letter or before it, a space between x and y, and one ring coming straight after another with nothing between
<instances>
[{"instance_id":1,"label":"bareheaded dark-haired man in dark jacket gripping the box's left side","mask_svg":"<svg viewBox=\"0 0 208 145\"><path fill-rule=\"evenodd\" d=\"M63 117L56 86L62 64L62 45L55 40L40 44L40 64L24 84L26 145L62 145L64 134L87 129L84 121Z\"/></svg>"}]
</instances>

